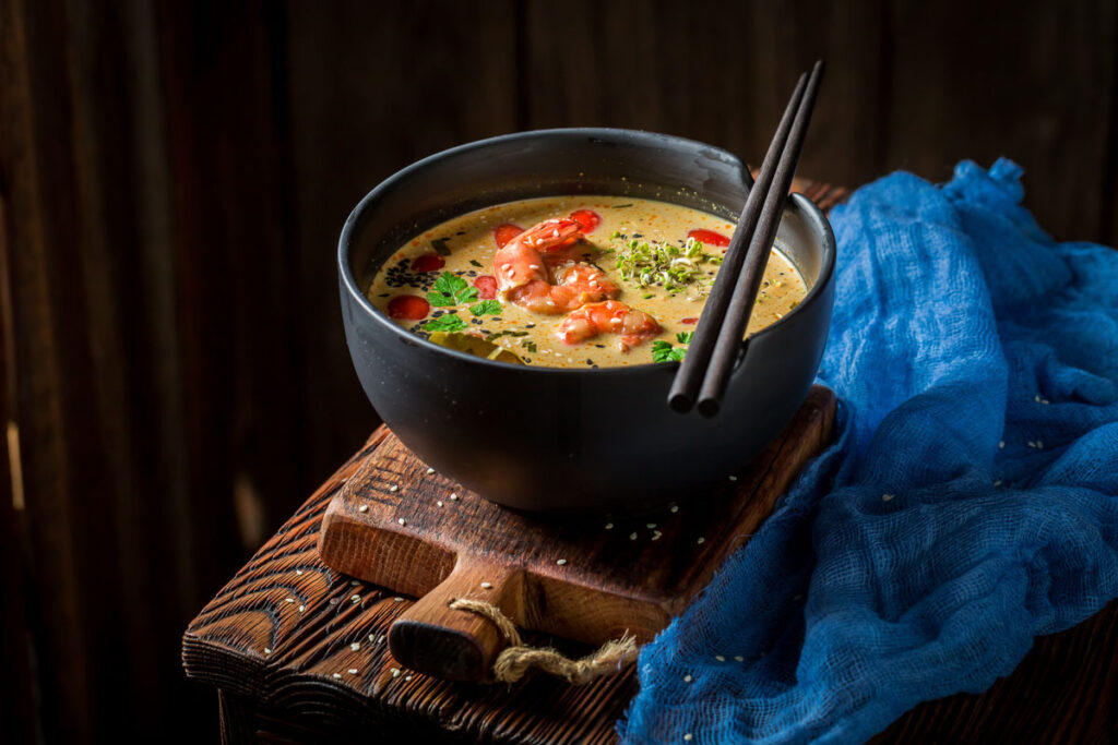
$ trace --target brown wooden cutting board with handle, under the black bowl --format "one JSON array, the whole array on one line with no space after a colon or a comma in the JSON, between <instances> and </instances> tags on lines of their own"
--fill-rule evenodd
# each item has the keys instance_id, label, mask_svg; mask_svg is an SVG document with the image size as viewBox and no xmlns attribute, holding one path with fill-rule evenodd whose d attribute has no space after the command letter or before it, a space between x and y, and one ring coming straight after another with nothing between
<instances>
[{"instance_id":1,"label":"brown wooden cutting board with handle, under the black bowl","mask_svg":"<svg viewBox=\"0 0 1118 745\"><path fill-rule=\"evenodd\" d=\"M681 494L639 518L517 513L444 478L389 434L323 517L323 563L419 598L389 631L408 668L490 679L505 640L452 610L457 598L495 604L519 628L600 644L625 631L650 641L768 517L804 464L831 439L834 394L812 389L798 413L714 493ZM547 478L541 474L541 478Z\"/></svg>"}]
</instances>

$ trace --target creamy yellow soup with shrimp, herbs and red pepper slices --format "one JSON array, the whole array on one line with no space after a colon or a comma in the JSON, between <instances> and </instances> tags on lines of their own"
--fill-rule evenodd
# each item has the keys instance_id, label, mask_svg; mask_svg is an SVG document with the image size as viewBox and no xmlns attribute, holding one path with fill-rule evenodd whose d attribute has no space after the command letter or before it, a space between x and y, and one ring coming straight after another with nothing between
<instances>
[{"instance_id":1,"label":"creamy yellow soup with shrimp, herbs and red pepper slices","mask_svg":"<svg viewBox=\"0 0 1118 745\"><path fill-rule=\"evenodd\" d=\"M406 242L379 268L368 297L413 333L505 362L680 360L733 228L708 212L629 197L496 204ZM779 249L778 241L747 334L806 295Z\"/></svg>"}]
</instances>

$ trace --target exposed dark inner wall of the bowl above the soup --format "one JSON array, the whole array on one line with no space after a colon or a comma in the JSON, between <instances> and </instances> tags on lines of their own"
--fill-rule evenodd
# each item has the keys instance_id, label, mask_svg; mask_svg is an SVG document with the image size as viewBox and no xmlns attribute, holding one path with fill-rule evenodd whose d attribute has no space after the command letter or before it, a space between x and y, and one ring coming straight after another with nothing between
<instances>
[{"instance_id":1,"label":"exposed dark inner wall of the bowl above the soup","mask_svg":"<svg viewBox=\"0 0 1118 745\"><path fill-rule=\"evenodd\" d=\"M501 202L558 194L626 195L737 220L750 185L749 172L737 157L682 137L627 130L494 137L432 155L370 192L343 231L342 269L363 298L376 271L401 243L452 217ZM788 201L777 245L811 294L825 251L818 226L812 225L818 217L808 213L805 202Z\"/></svg>"}]
</instances>

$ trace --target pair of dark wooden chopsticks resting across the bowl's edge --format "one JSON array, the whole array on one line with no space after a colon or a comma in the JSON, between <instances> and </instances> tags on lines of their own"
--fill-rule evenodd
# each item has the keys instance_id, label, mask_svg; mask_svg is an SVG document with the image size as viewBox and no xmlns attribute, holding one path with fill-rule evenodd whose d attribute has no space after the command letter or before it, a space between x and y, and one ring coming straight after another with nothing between
<instances>
[{"instance_id":1,"label":"pair of dark wooden chopsticks resting across the bowl's edge","mask_svg":"<svg viewBox=\"0 0 1118 745\"><path fill-rule=\"evenodd\" d=\"M667 404L675 411L690 411L695 405L704 416L718 413L780 226L822 78L821 59L815 63L811 77L799 76L784 111L667 394Z\"/></svg>"}]
</instances>

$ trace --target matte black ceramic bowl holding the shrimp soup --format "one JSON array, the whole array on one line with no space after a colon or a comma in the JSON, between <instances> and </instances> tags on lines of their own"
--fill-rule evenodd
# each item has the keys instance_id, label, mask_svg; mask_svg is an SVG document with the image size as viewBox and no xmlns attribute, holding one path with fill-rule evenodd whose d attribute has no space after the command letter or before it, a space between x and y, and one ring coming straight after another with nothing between
<instances>
[{"instance_id":1,"label":"matte black ceramic bowl holding the shrimp soup","mask_svg":"<svg viewBox=\"0 0 1118 745\"><path fill-rule=\"evenodd\" d=\"M823 354L835 242L806 198L792 197L778 239L807 297L742 344L713 418L669 408L679 363L566 370L492 362L404 331L363 289L405 240L483 206L626 194L736 219L750 185L726 151L628 130L524 132L404 169L361 200L338 249L345 338L369 401L429 466L514 508L639 510L724 483L792 419Z\"/></svg>"}]
</instances>

